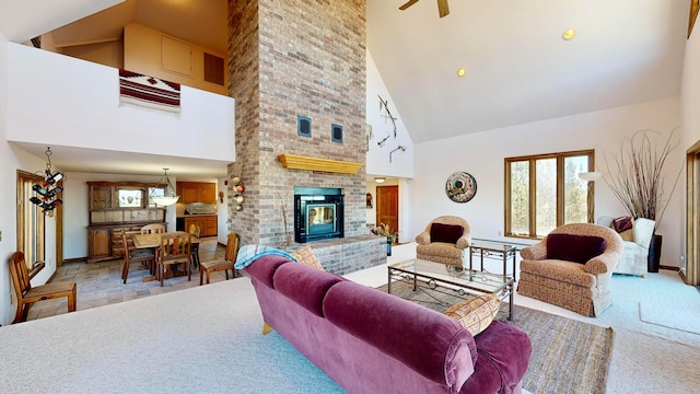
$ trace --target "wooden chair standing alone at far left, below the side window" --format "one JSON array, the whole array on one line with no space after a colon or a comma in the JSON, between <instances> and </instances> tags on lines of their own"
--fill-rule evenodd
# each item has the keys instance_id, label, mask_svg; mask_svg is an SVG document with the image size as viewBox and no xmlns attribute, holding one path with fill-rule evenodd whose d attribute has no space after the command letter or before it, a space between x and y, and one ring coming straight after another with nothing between
<instances>
[{"instance_id":1,"label":"wooden chair standing alone at far left, below the side window","mask_svg":"<svg viewBox=\"0 0 700 394\"><path fill-rule=\"evenodd\" d=\"M68 312L75 311L77 286L75 282L54 282L32 287L30 273L24 263L24 253L14 252L10 257L10 274L14 293L18 297L18 312L12 323L25 322L30 306L37 301L50 300L61 297L68 298Z\"/></svg>"}]
</instances>

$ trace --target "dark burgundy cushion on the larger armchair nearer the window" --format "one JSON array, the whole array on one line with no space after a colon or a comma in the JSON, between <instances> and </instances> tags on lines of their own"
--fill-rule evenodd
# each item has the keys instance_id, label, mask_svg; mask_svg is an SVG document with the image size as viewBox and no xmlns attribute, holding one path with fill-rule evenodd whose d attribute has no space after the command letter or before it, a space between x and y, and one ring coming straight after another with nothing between
<instances>
[{"instance_id":1,"label":"dark burgundy cushion on the larger armchair nearer the window","mask_svg":"<svg viewBox=\"0 0 700 394\"><path fill-rule=\"evenodd\" d=\"M606 246L600 236L553 233L547 235L547 258L585 264Z\"/></svg>"}]
</instances>

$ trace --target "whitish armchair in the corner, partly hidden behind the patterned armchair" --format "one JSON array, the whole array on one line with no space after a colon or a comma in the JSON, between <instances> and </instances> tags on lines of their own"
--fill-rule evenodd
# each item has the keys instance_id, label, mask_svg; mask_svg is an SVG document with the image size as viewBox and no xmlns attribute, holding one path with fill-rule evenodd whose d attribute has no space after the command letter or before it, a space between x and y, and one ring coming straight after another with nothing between
<instances>
[{"instance_id":1,"label":"whitish armchair in the corner, partly hidden behind the patterned armchair","mask_svg":"<svg viewBox=\"0 0 700 394\"><path fill-rule=\"evenodd\" d=\"M597 223L600 225L614 228L610 217L600 217ZM634 219L632 229L620 233L625 242L625 252L620 256L615 274L637 275L646 278L649 269L649 246L654 235L654 227L656 222L651 219Z\"/></svg>"}]
</instances>

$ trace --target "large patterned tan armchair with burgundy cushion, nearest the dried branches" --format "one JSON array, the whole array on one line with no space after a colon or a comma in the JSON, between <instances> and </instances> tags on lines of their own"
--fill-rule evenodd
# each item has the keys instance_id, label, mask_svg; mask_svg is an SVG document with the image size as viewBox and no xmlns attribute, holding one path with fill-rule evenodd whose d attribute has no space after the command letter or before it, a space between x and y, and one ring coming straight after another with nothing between
<instances>
[{"instance_id":1,"label":"large patterned tan armchair with burgundy cushion, nearest the dried branches","mask_svg":"<svg viewBox=\"0 0 700 394\"><path fill-rule=\"evenodd\" d=\"M521 251L517 292L596 316L610 305L610 279L623 250L622 239L608 227L561 225L539 243ZM567 259L560 259L562 255Z\"/></svg>"}]
</instances>

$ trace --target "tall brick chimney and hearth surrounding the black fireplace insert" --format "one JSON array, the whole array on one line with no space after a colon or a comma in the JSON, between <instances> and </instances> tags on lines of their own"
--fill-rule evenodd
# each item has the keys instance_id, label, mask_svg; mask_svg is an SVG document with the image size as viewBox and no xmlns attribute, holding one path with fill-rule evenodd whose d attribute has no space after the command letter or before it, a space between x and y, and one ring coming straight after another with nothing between
<instances>
[{"instance_id":1,"label":"tall brick chimney and hearth surrounding the black fireplace insert","mask_svg":"<svg viewBox=\"0 0 700 394\"><path fill-rule=\"evenodd\" d=\"M294 187L334 188L343 196L343 237L314 241L314 252L340 274L385 263L385 245L365 225L364 166L288 169L278 159L365 162L365 14L364 0L229 0L237 158L229 175L245 185L243 209L230 201L229 217L242 244L293 240ZM300 132L300 118L310 132Z\"/></svg>"}]
</instances>

